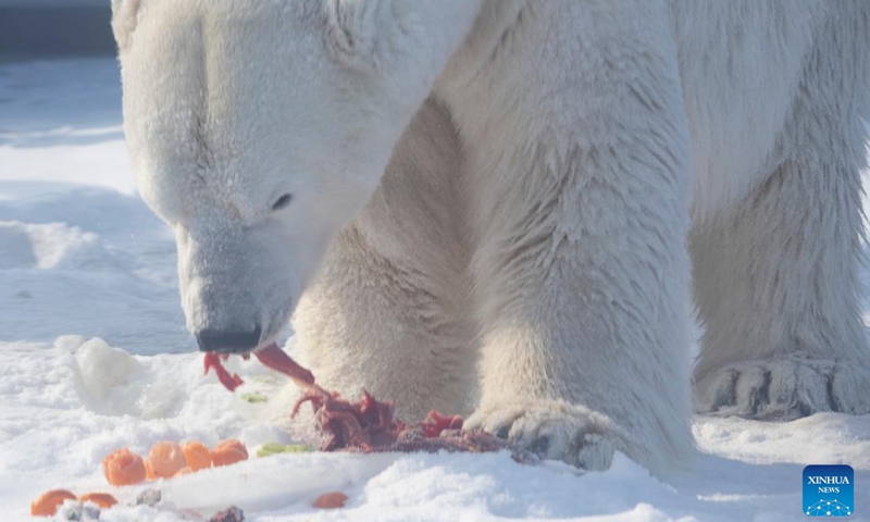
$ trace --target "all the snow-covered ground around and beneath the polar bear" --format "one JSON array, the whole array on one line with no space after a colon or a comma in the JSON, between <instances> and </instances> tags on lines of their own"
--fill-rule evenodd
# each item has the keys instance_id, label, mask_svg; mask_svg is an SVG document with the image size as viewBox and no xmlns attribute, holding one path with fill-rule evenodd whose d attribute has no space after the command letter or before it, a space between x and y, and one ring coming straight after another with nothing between
<instances>
[{"instance_id":1,"label":"all the snow-covered ground around and beneath the polar bear","mask_svg":"<svg viewBox=\"0 0 870 522\"><path fill-rule=\"evenodd\" d=\"M134 192L120 95L111 60L0 64L2 521L27 520L30 500L57 487L130 500L137 488L113 489L100 472L121 446L238 437L254 449L298 430L281 376L233 362L248 384L232 395L202 375L172 235ZM809 463L855 468L852 520L870 520L870 415L697 418L695 434L705 453L667 482L624 457L579 474L508 455L284 455L158 484L162 509L116 507L100 520L198 520L190 510L232 504L254 521L800 520ZM346 509L310 507L332 489L349 495Z\"/></svg>"}]
</instances>

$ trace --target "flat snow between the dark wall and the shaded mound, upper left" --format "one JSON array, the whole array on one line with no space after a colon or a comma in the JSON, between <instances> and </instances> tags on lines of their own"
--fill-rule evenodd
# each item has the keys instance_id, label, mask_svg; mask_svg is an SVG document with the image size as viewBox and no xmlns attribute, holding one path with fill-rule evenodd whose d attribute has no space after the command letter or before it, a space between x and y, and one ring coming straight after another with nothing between
<instances>
[{"instance_id":1,"label":"flat snow between the dark wall and the shaded mound, upper left","mask_svg":"<svg viewBox=\"0 0 870 522\"><path fill-rule=\"evenodd\" d=\"M0 67L0 181L133 192L119 76L117 66L104 59Z\"/></svg>"}]
</instances>

